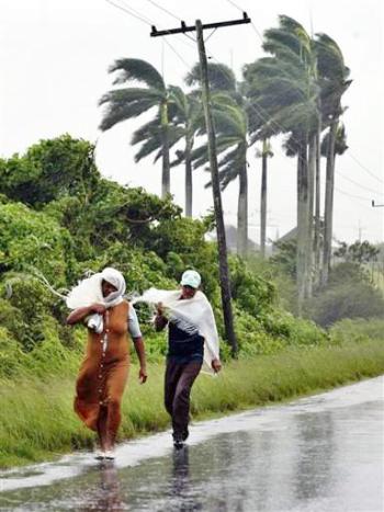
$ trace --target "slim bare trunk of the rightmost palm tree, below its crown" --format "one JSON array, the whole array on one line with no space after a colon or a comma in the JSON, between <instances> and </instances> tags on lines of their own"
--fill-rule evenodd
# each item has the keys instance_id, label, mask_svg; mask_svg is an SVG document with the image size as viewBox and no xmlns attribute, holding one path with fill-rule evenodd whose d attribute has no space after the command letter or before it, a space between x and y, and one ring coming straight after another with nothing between
<instances>
[{"instance_id":1,"label":"slim bare trunk of the rightmost palm tree, below its crown","mask_svg":"<svg viewBox=\"0 0 384 512\"><path fill-rule=\"evenodd\" d=\"M326 169L326 197L324 211L324 246L323 246L323 269L321 285L328 283L330 271L330 258L332 251L332 221L334 221L334 182L335 182L335 141L338 120L334 118L329 126L329 139L327 148Z\"/></svg>"}]
</instances>

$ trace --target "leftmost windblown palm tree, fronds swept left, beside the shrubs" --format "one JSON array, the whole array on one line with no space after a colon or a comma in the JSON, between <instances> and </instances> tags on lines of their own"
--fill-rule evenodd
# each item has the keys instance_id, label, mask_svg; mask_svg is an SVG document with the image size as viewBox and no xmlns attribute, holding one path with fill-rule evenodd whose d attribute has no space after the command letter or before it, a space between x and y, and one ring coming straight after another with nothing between
<instances>
[{"instance_id":1,"label":"leftmost windblown palm tree, fronds swept left, beside the shrubs","mask_svg":"<svg viewBox=\"0 0 384 512\"><path fill-rule=\"evenodd\" d=\"M123 58L115 60L109 72L118 72L113 84L139 82L145 87L124 87L106 92L100 105L106 105L100 128L104 132L117 123L137 117L153 107L157 109L155 120L145 125L145 129L157 128L157 137L161 140L162 177L161 197L170 191L169 163L169 91L161 75L154 66L142 59ZM144 146L136 159L151 152Z\"/></svg>"}]
</instances>

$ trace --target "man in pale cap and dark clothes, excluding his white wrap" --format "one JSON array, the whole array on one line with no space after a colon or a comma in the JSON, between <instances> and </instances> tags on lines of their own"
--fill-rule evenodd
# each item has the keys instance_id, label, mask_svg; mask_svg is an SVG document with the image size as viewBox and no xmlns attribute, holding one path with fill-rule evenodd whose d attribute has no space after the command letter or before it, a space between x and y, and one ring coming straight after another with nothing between
<instances>
[{"instance_id":1,"label":"man in pale cap and dark clothes, excluding his white wrap","mask_svg":"<svg viewBox=\"0 0 384 512\"><path fill-rule=\"evenodd\" d=\"M195 271L185 271L181 277L180 300L194 297L201 284L201 277ZM168 354L165 382L165 405L172 418L173 444L181 448L189 436L190 395L192 385L197 377L204 357L204 338L197 328L183 330L174 320L165 317L162 304L157 305L155 327L157 331L168 325ZM222 364L218 359L212 361L212 368L219 372Z\"/></svg>"}]
</instances>

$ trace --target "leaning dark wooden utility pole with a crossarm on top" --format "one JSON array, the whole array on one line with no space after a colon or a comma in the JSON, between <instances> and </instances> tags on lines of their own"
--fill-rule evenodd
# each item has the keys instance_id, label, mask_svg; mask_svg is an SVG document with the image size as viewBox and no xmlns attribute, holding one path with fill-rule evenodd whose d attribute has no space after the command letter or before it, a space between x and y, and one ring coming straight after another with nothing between
<instances>
[{"instance_id":1,"label":"leaning dark wooden utility pole with a crossarm on top","mask_svg":"<svg viewBox=\"0 0 384 512\"><path fill-rule=\"evenodd\" d=\"M180 29L170 29L167 31L157 31L156 26L153 26L150 35L153 37L170 34L184 34L187 32L196 32L197 36L197 48L200 69L202 78L202 102L204 107L205 128L208 137L208 155L210 155L210 168L211 168L211 181L213 192L213 203L215 211L216 220L216 232L217 232L217 248L218 248L218 270L219 270L219 282L222 292L222 305L224 314L225 335L227 342L231 348L233 355L238 352L238 344L234 329L234 315L231 309L231 296L230 296L230 281L228 270L228 258L227 258L227 244L225 237L225 226L223 216L223 204L222 193L218 180L218 166L217 166L217 153L216 153L216 137L215 128L213 123L213 116L211 111L211 91L208 82L208 69L205 54L205 45L203 32L207 29L219 29L223 26L240 25L250 23L250 19L245 12L242 19L225 21L219 23L207 23L202 24L201 20L196 20L195 25L187 26L182 21Z\"/></svg>"}]
</instances>

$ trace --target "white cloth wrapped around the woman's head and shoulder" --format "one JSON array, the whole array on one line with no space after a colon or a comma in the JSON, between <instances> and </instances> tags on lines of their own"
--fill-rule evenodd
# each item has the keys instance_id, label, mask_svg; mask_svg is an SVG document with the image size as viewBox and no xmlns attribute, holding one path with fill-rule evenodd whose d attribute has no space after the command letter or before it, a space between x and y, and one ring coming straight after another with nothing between
<instances>
[{"instance_id":1,"label":"white cloth wrapped around the woman's head and shoulder","mask_svg":"<svg viewBox=\"0 0 384 512\"><path fill-rule=\"evenodd\" d=\"M103 297L101 284L103 281L112 284L116 292L112 292L108 297ZM66 304L69 309L77 309L91 306L92 304L103 304L106 308L117 306L123 301L125 293L125 280L121 272L115 269L106 268L102 272L87 277L78 283L66 297ZM99 334L104 329L103 316L92 314L87 317L87 326Z\"/></svg>"}]
</instances>

